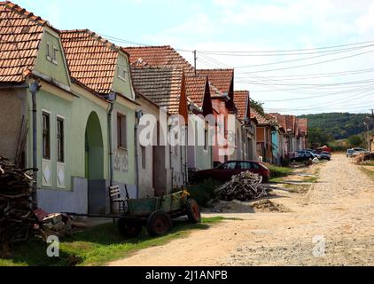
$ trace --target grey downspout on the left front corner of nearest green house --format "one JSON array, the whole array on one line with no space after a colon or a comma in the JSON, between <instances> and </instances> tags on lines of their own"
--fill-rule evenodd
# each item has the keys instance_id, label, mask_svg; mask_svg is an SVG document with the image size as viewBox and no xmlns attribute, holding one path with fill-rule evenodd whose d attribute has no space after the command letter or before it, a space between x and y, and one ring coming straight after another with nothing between
<instances>
[{"instance_id":1,"label":"grey downspout on the left front corner of nearest green house","mask_svg":"<svg viewBox=\"0 0 374 284\"><path fill-rule=\"evenodd\" d=\"M32 208L37 209L37 106L36 106L36 93L41 88L41 85L38 82L30 83L29 90L31 92L31 99L32 99L32 112L33 112L33 188L31 193L31 201L33 202Z\"/></svg>"}]
</instances>

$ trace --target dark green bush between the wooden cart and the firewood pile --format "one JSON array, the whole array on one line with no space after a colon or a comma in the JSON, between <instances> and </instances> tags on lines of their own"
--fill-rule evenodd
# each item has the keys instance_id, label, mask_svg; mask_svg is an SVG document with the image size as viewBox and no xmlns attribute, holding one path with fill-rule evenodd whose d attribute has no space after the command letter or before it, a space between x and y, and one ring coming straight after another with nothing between
<instances>
[{"instance_id":1,"label":"dark green bush between the wooden cart and the firewood pile","mask_svg":"<svg viewBox=\"0 0 374 284\"><path fill-rule=\"evenodd\" d=\"M206 203L214 198L214 189L222 183L213 178L206 179L199 185L187 186L191 198L199 203L199 206L206 206Z\"/></svg>"}]
</instances>

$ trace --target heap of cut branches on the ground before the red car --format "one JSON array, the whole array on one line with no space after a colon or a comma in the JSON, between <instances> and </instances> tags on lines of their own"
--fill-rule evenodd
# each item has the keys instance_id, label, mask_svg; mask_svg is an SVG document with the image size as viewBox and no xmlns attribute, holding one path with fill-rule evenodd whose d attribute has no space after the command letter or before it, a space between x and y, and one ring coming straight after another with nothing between
<instances>
[{"instance_id":1,"label":"heap of cut branches on the ground before the red car","mask_svg":"<svg viewBox=\"0 0 374 284\"><path fill-rule=\"evenodd\" d=\"M229 182L219 186L214 193L222 201L251 201L268 196L267 189L261 183L261 176L246 171L231 177Z\"/></svg>"}]
</instances>

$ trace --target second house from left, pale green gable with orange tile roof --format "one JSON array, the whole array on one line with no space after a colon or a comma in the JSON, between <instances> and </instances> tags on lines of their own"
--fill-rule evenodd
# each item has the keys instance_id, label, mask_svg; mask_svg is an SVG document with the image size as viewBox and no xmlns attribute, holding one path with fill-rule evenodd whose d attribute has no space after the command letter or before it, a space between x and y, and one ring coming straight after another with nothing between
<instances>
[{"instance_id":1,"label":"second house from left, pale green gable with orange tile roof","mask_svg":"<svg viewBox=\"0 0 374 284\"><path fill-rule=\"evenodd\" d=\"M105 118L108 138L104 141L108 144L109 179L103 180L101 175L97 175L97 146L90 146L87 142L90 135L93 139L97 137L94 133L98 125L92 126L95 131L86 130L86 176L89 178L89 188L93 189L92 199L97 200L97 194L103 198L105 194L105 204L108 205L108 194L103 188L109 185L120 185L122 190L126 185L130 195L137 197L134 135L137 104L128 54L87 29L62 31L61 40L74 81L111 102ZM90 116L90 119L94 118Z\"/></svg>"}]
</instances>

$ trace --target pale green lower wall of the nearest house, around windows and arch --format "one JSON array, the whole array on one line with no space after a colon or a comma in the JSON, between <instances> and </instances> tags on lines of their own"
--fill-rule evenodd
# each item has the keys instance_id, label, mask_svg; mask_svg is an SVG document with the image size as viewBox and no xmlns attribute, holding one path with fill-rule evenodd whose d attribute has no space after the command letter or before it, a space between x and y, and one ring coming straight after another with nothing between
<instances>
[{"instance_id":1,"label":"pale green lower wall of the nearest house, around windows and arch","mask_svg":"<svg viewBox=\"0 0 374 284\"><path fill-rule=\"evenodd\" d=\"M28 121L30 133L32 130L32 112L31 112L31 94L27 92L28 97ZM52 165L52 186L56 188L56 163L57 163L57 115L65 118L65 164L66 164L66 188L72 190L71 177L86 177L85 167L85 132L86 125L91 113L97 114L102 130L104 159L102 167L102 176L107 179L109 174L108 167L108 141L107 136L107 116L106 108L98 106L90 99L81 96L74 98L73 101L62 99L51 92L42 89L37 93L37 144L38 144L38 163L39 169L42 169L42 114L43 110L51 114L51 165ZM27 141L27 161L28 166L32 166L32 135L29 135ZM42 185L42 173L38 174L38 186ZM48 187L47 187L48 188Z\"/></svg>"}]
</instances>

